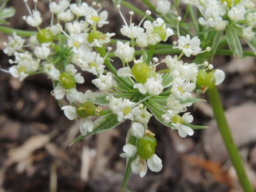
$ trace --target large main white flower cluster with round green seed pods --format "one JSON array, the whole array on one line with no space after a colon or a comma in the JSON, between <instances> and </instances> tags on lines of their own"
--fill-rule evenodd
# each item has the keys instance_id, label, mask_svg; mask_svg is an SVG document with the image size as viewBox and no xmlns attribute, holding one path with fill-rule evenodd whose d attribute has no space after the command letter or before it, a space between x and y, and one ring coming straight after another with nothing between
<instances>
[{"instance_id":1,"label":"large main white flower cluster with round green seed pods","mask_svg":"<svg viewBox=\"0 0 256 192\"><path fill-rule=\"evenodd\" d=\"M24 2L27 5L27 0ZM208 62L187 63L181 61L181 57L198 55L210 48L202 51L197 36L180 35L177 28L178 39L173 42L173 48L178 48L180 55L168 55L159 61L153 57L155 49L175 35L175 31L163 18L146 20L151 15L149 11L138 25L132 21L128 25L118 5L125 23L120 31L130 41L116 43L112 55L120 58L122 63L117 70L112 65L114 61L108 58L111 48L105 49L115 34L98 30L108 24L108 12L101 12L101 5L50 1L52 21L57 18L58 22L40 28L42 16L36 8L37 0L34 2L35 9L31 10L27 5L29 15L23 19L37 29L35 35L25 39L13 32L5 43L5 54L14 56L9 60L12 64L9 73L20 81L39 73L52 79L52 95L57 100L66 98L69 101L68 105L62 106L65 116L69 120L82 119L81 135L75 142L131 121L125 153L121 157L132 159L131 170L141 177L145 176L148 167L160 171L161 159L155 154L157 141L155 134L148 130L148 121L155 116L161 124L178 130L181 137L194 134L196 126L191 126L193 117L187 108L200 99L194 98L192 92L214 88L224 80L224 73L213 69ZM163 8L165 5L167 7ZM160 1L158 12L168 14L170 6L168 1ZM134 12L129 13L132 18ZM251 25L255 24L254 15L250 21ZM135 58L138 49L141 55ZM76 84L86 83L82 73L95 75L91 81L95 90L78 91ZM91 116L98 118L92 121Z\"/></svg>"}]
</instances>

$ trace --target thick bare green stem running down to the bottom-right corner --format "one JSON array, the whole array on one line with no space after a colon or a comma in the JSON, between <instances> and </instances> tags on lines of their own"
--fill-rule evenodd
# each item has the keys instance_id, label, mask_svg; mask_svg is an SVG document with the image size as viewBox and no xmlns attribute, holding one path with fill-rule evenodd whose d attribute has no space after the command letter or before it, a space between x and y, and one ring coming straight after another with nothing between
<instances>
[{"instance_id":1,"label":"thick bare green stem running down to the bottom-right corner","mask_svg":"<svg viewBox=\"0 0 256 192\"><path fill-rule=\"evenodd\" d=\"M254 190L251 187L251 184L248 180L248 177L245 173L241 157L239 156L238 149L234 144L231 131L228 127L228 123L224 117L224 110L222 108L221 99L218 94L218 89L212 88L207 91L208 98L211 104L211 108L214 111L214 117L218 124L218 129L221 132L221 137L224 141L225 147L228 151L228 155L231 159L231 162L238 174L238 180L243 187L244 192L253 192Z\"/></svg>"}]
</instances>

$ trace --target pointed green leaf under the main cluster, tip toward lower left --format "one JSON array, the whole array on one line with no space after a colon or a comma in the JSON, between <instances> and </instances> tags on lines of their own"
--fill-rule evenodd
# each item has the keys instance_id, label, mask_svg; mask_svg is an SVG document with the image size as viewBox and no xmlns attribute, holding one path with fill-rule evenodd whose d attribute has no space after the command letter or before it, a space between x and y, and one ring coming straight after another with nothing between
<instances>
[{"instance_id":1,"label":"pointed green leaf under the main cluster, tip toward lower left","mask_svg":"<svg viewBox=\"0 0 256 192\"><path fill-rule=\"evenodd\" d=\"M98 118L97 120L95 120L93 122L94 124L94 129L91 132L88 132L85 136L83 135L79 135L78 137L75 138L74 141L71 142L71 144L69 144L69 147L72 144L75 144L76 142L80 141L81 139L92 135L92 134L99 134L103 131L107 131L109 129L112 129L116 126L118 126L118 124L121 124L124 121L118 121L118 116L116 114L106 114L104 116L101 116L100 118Z\"/></svg>"}]
</instances>

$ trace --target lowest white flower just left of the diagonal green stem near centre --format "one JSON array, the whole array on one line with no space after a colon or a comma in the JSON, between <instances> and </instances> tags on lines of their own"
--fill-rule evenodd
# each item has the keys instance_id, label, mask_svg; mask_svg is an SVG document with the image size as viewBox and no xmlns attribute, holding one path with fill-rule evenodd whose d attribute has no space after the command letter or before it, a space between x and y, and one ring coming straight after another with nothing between
<instances>
[{"instance_id":1,"label":"lowest white flower just left of the diagonal green stem near centre","mask_svg":"<svg viewBox=\"0 0 256 192\"><path fill-rule=\"evenodd\" d=\"M95 78L91 81L101 91L108 91L112 87L113 79L112 74L108 72L105 74L99 74L99 78Z\"/></svg>"}]
</instances>

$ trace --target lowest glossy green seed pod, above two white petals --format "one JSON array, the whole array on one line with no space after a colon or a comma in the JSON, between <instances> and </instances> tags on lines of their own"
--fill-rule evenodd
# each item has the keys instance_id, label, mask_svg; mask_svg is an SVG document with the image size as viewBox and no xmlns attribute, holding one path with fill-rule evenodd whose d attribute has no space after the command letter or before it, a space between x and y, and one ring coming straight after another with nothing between
<instances>
[{"instance_id":1,"label":"lowest glossy green seed pod, above two white petals","mask_svg":"<svg viewBox=\"0 0 256 192\"><path fill-rule=\"evenodd\" d=\"M155 137L144 135L138 141L137 154L141 159L148 159L155 154L155 146L157 141Z\"/></svg>"}]
</instances>

